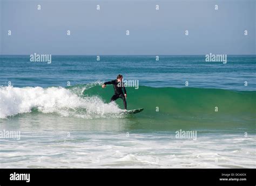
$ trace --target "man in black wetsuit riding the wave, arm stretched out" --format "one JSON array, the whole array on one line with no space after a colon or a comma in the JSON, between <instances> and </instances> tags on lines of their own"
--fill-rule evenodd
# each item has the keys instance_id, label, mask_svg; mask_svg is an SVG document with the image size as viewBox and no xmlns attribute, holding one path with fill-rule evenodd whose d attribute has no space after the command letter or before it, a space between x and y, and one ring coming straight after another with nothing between
<instances>
[{"instance_id":1,"label":"man in black wetsuit riding the wave, arm stretched out","mask_svg":"<svg viewBox=\"0 0 256 186\"><path fill-rule=\"evenodd\" d=\"M110 102L116 101L116 99L121 98L124 102L124 109L127 109L127 103L126 103L126 90L124 87L124 83L122 82L123 76L118 75L116 80L105 82L102 85L102 88L106 87L106 84L113 84L114 87L114 95L111 97ZM124 90L124 92L123 92Z\"/></svg>"}]
</instances>

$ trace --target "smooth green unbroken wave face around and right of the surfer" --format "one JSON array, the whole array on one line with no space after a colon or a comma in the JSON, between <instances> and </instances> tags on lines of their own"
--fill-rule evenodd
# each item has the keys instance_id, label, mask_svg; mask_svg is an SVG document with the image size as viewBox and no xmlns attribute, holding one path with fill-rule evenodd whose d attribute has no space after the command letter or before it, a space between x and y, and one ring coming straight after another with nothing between
<instances>
[{"instance_id":1,"label":"smooth green unbroken wave face around and right of the surfer","mask_svg":"<svg viewBox=\"0 0 256 186\"><path fill-rule=\"evenodd\" d=\"M107 90L95 86L84 90L84 96L97 95L104 100L112 96L112 86ZM205 88L153 88L139 86L126 88L128 109L145 108L145 112L170 115L219 115L255 113L256 91L232 91ZM122 102L120 106L122 106ZM217 108L216 108L217 107ZM218 109L218 110L217 110ZM144 111L143 111L144 112Z\"/></svg>"}]
</instances>

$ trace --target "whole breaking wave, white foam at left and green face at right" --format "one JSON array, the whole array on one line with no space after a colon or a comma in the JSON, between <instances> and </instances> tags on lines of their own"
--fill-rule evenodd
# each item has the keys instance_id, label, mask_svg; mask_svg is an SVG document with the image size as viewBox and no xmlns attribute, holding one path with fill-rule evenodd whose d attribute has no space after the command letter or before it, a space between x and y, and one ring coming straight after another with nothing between
<instances>
[{"instance_id":1,"label":"whole breaking wave, white foam at left and green face at right","mask_svg":"<svg viewBox=\"0 0 256 186\"><path fill-rule=\"evenodd\" d=\"M31 112L58 113L82 118L123 117L121 100L109 103L111 85L101 82L72 87L1 87L0 118ZM227 117L255 121L256 91L232 91L203 88L126 88L127 109L144 108L139 116Z\"/></svg>"}]
</instances>

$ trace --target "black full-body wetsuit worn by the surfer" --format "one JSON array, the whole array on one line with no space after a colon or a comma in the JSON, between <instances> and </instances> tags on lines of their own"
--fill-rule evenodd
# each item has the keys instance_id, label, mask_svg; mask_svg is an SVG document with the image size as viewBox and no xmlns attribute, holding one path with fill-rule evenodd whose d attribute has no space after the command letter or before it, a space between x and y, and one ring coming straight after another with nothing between
<instances>
[{"instance_id":1,"label":"black full-body wetsuit worn by the surfer","mask_svg":"<svg viewBox=\"0 0 256 186\"><path fill-rule=\"evenodd\" d=\"M125 99L125 96L124 96L124 94L126 94L126 90L125 90L123 82L118 82L117 80L113 80L113 81L105 82L104 84L105 85L106 84L113 84L114 95L111 97L110 102L116 101L116 99L118 99L118 98L122 98L123 102L124 102L124 108L126 109L127 108L127 103L126 103L126 99ZM123 92L123 90L124 90L124 92Z\"/></svg>"}]
</instances>

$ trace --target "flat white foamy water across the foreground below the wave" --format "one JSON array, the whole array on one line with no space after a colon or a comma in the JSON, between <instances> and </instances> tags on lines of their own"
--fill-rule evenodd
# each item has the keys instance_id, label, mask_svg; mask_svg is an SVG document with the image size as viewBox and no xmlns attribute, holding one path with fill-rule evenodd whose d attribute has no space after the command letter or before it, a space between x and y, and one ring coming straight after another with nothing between
<instances>
[{"instance_id":1,"label":"flat white foamy water across the foreground below the wave","mask_svg":"<svg viewBox=\"0 0 256 186\"><path fill-rule=\"evenodd\" d=\"M57 135L56 135L57 133ZM95 133L72 131L69 141L64 142L65 132L41 131L24 132L29 140L21 139L21 144L8 142L1 144L1 168L255 168L255 135L247 144L230 144L239 138L229 135L229 141L220 136L206 134L197 140L183 144L170 134L133 134L133 148L124 134L112 132ZM164 135L162 140L152 140ZM49 139L52 139L49 141ZM77 143L76 139L79 139ZM222 141L222 143L220 143ZM34 143L32 143L34 142ZM11 144L11 145L10 145ZM24 149L17 149L19 146ZM217 146L218 145L218 146ZM219 148L221 147L221 148ZM241 151L233 153L234 148Z\"/></svg>"}]
</instances>

